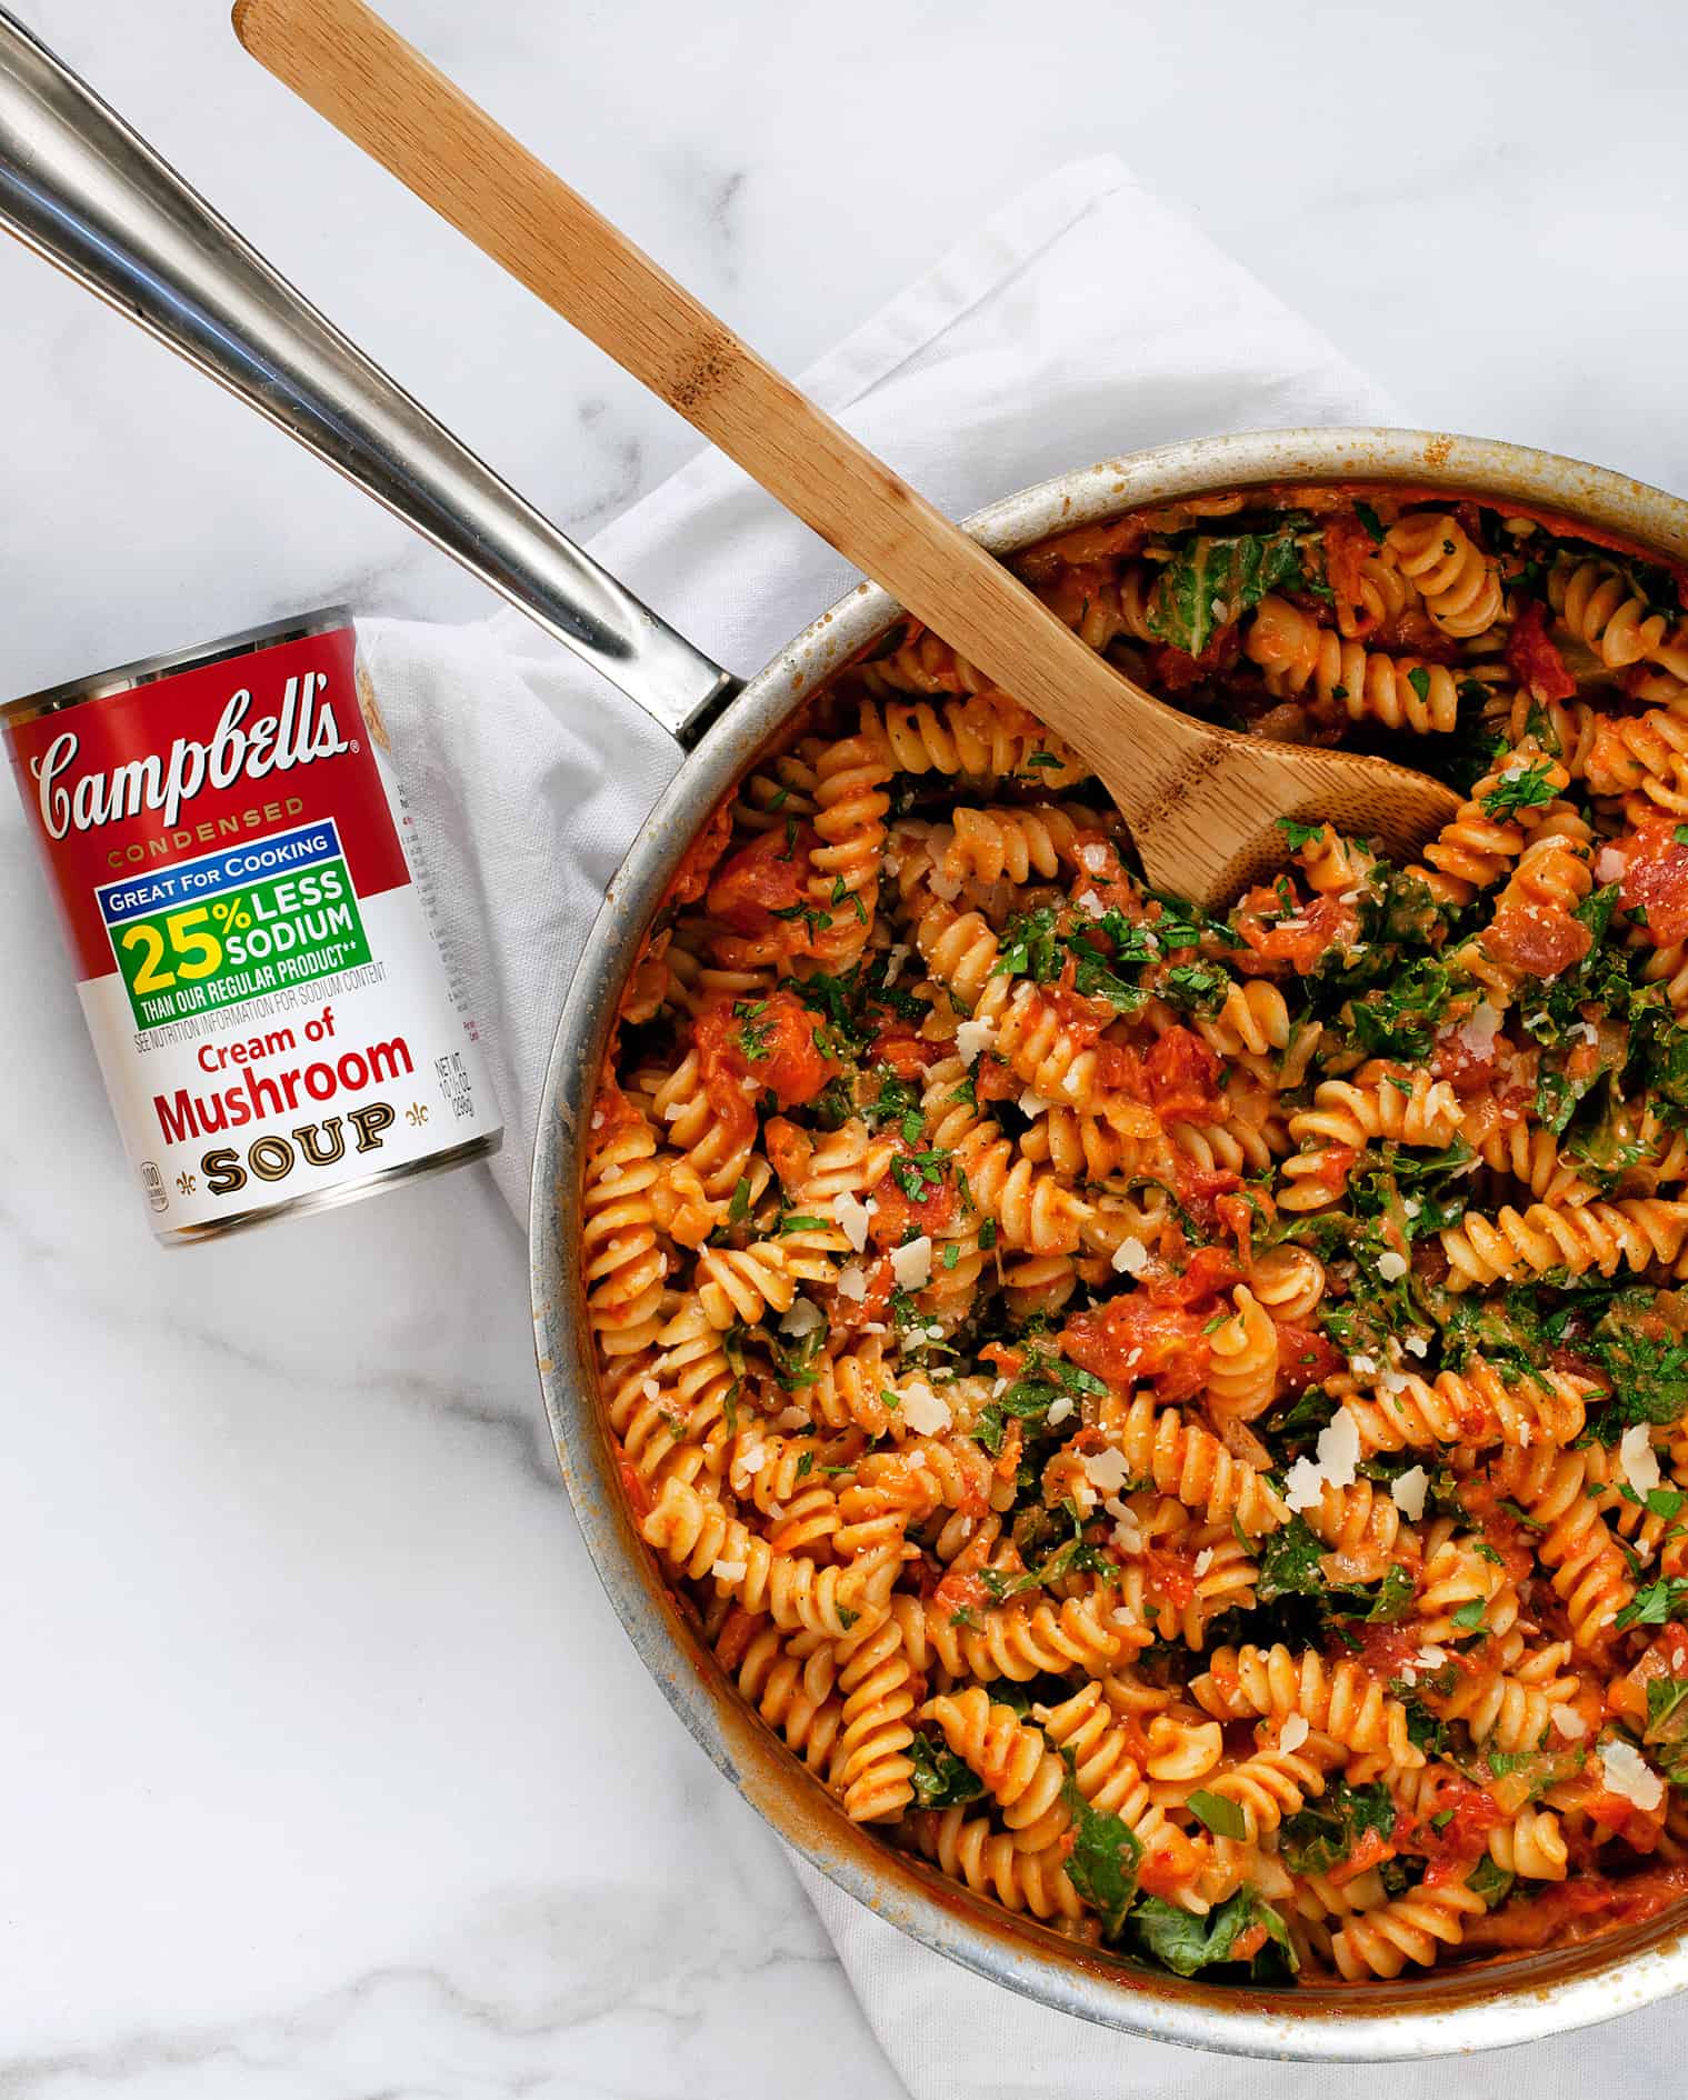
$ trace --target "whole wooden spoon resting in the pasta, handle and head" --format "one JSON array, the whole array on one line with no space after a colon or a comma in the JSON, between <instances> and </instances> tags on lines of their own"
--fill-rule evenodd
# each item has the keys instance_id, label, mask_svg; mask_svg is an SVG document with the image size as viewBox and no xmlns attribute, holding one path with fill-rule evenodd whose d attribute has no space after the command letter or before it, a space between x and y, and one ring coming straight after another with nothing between
<instances>
[{"instance_id":1,"label":"whole wooden spoon resting in the pasta, handle and head","mask_svg":"<svg viewBox=\"0 0 1688 2100\"><path fill-rule=\"evenodd\" d=\"M1211 729L1096 655L479 109L363 0L235 0L235 34L336 130L661 395L962 657L1058 731L1148 880L1218 903L1285 857L1276 817L1411 853L1457 808L1352 752Z\"/></svg>"}]
</instances>

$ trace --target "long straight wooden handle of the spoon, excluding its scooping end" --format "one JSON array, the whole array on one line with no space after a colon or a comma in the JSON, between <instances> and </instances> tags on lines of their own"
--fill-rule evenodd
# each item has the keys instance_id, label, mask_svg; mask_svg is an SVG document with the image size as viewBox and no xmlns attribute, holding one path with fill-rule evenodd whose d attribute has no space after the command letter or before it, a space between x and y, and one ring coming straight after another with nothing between
<instances>
[{"instance_id":1,"label":"long straight wooden handle of the spoon, excluding its scooping end","mask_svg":"<svg viewBox=\"0 0 1688 2100\"><path fill-rule=\"evenodd\" d=\"M535 160L363 0L235 0L235 34L336 130L661 395L1092 762L1182 716L1140 695L957 525ZM1178 758L1174 758L1178 752ZM1146 760L1151 752L1142 754ZM1151 781L1144 764L1144 808Z\"/></svg>"}]
</instances>

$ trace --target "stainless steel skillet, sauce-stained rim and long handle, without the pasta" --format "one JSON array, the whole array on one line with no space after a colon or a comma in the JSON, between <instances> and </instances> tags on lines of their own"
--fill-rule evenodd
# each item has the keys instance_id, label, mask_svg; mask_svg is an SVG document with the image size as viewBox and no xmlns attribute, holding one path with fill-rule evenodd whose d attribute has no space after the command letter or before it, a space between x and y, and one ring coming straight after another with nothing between
<instances>
[{"instance_id":1,"label":"stainless steel skillet, sauce-stained rim and long handle, without the pasta","mask_svg":"<svg viewBox=\"0 0 1688 2100\"><path fill-rule=\"evenodd\" d=\"M691 752L611 884L558 1023L537 1128L533 1312L563 1472L611 1602L670 1703L762 1814L928 1947L1058 2010L1167 2041L1260 2056L1409 2058L1539 2039L1688 1984L1682 1922L1654 1919L1499 1974L1289 1997L1211 1989L1077 1951L974 1903L842 1819L724 1686L628 1520L579 1306L575 1132L621 981L693 834L894 607L859 588L741 687L464 452L4 13L0 220L529 611ZM1657 489L1512 445L1402 430L1199 439L1010 496L970 529L1010 552L1144 502L1333 479L1503 496L1688 559L1688 506Z\"/></svg>"}]
</instances>

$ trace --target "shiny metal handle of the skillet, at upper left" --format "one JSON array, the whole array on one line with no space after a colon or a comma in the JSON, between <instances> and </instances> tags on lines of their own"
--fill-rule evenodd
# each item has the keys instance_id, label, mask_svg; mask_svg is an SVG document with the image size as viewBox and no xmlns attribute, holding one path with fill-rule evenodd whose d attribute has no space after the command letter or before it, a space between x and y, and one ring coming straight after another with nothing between
<instances>
[{"instance_id":1,"label":"shiny metal handle of the skillet, at upper left","mask_svg":"<svg viewBox=\"0 0 1688 2100\"><path fill-rule=\"evenodd\" d=\"M323 319L4 8L0 225L338 466L680 741L739 691Z\"/></svg>"}]
</instances>

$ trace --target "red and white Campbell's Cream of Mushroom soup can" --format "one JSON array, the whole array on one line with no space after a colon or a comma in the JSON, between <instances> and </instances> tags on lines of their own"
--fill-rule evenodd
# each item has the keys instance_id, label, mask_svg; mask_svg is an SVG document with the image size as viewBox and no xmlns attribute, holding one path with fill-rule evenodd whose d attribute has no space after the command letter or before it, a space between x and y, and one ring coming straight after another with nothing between
<instances>
[{"instance_id":1,"label":"red and white Campbell's Cream of Mushroom soup can","mask_svg":"<svg viewBox=\"0 0 1688 2100\"><path fill-rule=\"evenodd\" d=\"M160 1239L498 1151L349 613L2 712Z\"/></svg>"}]
</instances>

